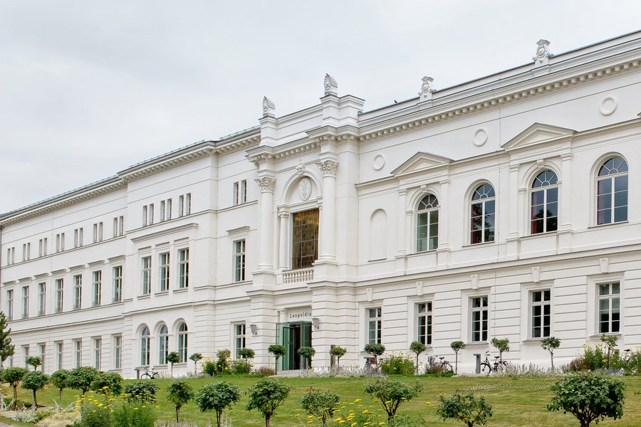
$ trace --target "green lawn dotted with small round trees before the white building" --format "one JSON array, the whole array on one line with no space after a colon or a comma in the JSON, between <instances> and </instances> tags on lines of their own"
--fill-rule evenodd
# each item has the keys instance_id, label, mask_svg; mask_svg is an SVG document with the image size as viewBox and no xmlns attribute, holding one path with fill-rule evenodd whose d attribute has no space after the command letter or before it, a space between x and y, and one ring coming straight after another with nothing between
<instances>
[{"instance_id":1,"label":"green lawn dotted with small round trees before the white building","mask_svg":"<svg viewBox=\"0 0 641 427\"><path fill-rule=\"evenodd\" d=\"M622 376L620 377L626 384L626 399L624 407L624 416L618 421L605 421L600 426L641 426L641 376ZM225 376L225 381L237 384L242 391L254 384L256 378L241 376ZM167 402L166 392L170 379L155 380L160 386L160 393L157 396L157 409L159 420L170 420L174 417L174 408ZM221 381L215 379L189 379L194 390L207 384L210 381ZM272 426L320 426L320 421L314 421L308 424L307 414L303 413L300 405L300 399L306 390L310 387L320 390L331 390L340 395L341 402L345 404L345 411L348 408L355 408L357 411L368 409L381 414L380 421L385 421L383 413L378 411L382 406L370 399L363 389L372 379L366 378L283 378L285 384L292 387L290 397L286 404L278 408L276 416L272 418ZM571 427L578 426L578 421L571 415L563 413L550 413L546 410L546 404L551 399L550 386L555 379L553 378L528 378L528 377L452 377L452 378L422 378L413 377L402 378L402 381L413 382L419 381L423 386L423 391L419 396L402 404L399 413L412 413L422 415L428 421L429 425L434 426L463 426L460 422L440 421L436 416L436 407L439 394L452 394L460 390L464 392L474 392L476 395L484 395L491 405L494 406L494 416L490 418L490 426L559 426ZM11 387L4 384L4 394L11 394ZM31 401L31 392L19 389L19 399ZM77 394L72 390L65 390L63 393L63 404L68 404ZM38 393L38 403L48 405L53 399L58 399L58 390L48 386L44 391ZM355 399L362 399L354 403ZM426 404L429 401L431 404ZM234 426L264 426L264 419L256 411L248 412L245 410L247 398L244 396L239 404L232 407L229 413ZM362 406L360 406L362 405ZM200 413L195 404L190 402L181 410L181 418L186 417L190 421L198 421L199 426L204 427L208 418L212 418L215 425L215 416L212 413ZM15 423L6 419L1 420L5 423L14 423L16 426L29 426L30 424ZM348 425L348 424L345 424Z\"/></svg>"}]
</instances>

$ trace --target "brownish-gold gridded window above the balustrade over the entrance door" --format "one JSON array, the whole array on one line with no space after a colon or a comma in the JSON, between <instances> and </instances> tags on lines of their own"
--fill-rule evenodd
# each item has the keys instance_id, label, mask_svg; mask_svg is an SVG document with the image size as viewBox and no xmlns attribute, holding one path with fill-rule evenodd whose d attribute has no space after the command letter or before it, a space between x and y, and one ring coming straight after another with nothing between
<instances>
[{"instance_id":1,"label":"brownish-gold gridded window above the balustrade over the entrance door","mask_svg":"<svg viewBox=\"0 0 641 427\"><path fill-rule=\"evenodd\" d=\"M318 259L318 209L292 215L291 268L311 267Z\"/></svg>"}]
</instances>

